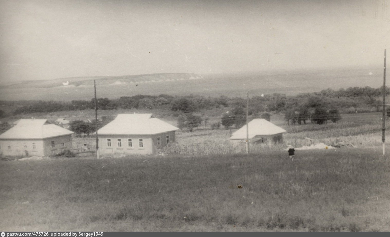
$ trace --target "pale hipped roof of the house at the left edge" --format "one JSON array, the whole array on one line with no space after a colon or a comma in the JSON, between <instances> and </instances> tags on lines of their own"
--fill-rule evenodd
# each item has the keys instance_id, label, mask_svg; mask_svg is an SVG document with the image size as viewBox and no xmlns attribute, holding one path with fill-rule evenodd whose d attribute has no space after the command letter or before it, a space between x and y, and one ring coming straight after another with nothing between
<instances>
[{"instance_id":1,"label":"pale hipped roof of the house at the left edge","mask_svg":"<svg viewBox=\"0 0 390 237\"><path fill-rule=\"evenodd\" d=\"M46 119L20 119L18 124L0 135L0 139L43 139L73 134L65 128L46 124Z\"/></svg>"}]
</instances>

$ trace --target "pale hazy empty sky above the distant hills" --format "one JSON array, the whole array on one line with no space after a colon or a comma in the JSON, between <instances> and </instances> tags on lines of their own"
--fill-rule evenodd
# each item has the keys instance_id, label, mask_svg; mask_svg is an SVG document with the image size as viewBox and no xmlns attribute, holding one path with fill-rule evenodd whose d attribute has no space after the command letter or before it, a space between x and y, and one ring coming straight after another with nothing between
<instances>
[{"instance_id":1,"label":"pale hazy empty sky above the distant hills","mask_svg":"<svg viewBox=\"0 0 390 237\"><path fill-rule=\"evenodd\" d=\"M390 41L383 0L0 3L1 80L380 66Z\"/></svg>"}]
</instances>

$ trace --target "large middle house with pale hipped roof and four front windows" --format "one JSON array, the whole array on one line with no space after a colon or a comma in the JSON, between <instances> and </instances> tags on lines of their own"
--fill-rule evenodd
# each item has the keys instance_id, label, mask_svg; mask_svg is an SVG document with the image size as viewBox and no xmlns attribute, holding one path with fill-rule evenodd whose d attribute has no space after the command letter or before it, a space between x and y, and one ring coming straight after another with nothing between
<instances>
[{"instance_id":1,"label":"large middle house with pale hipped roof and four front windows","mask_svg":"<svg viewBox=\"0 0 390 237\"><path fill-rule=\"evenodd\" d=\"M99 153L155 154L176 141L176 130L152 114L118 114L97 130Z\"/></svg>"}]
</instances>

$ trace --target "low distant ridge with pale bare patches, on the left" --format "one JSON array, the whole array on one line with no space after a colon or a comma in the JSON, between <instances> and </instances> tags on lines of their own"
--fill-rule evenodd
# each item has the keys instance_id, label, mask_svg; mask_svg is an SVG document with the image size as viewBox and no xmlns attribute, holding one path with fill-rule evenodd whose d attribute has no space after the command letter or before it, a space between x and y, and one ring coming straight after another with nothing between
<instances>
[{"instance_id":1,"label":"low distant ridge with pale bare patches, on the left","mask_svg":"<svg viewBox=\"0 0 390 237\"><path fill-rule=\"evenodd\" d=\"M126 75L126 76L108 76L108 77L71 77L58 78L52 80L34 80L34 81L17 81L0 85L0 89L22 89L22 88L52 88L52 87L78 87L93 86L96 80L96 86L102 85L130 85L152 82L169 82L203 79L203 76L194 73L156 73L145 75Z\"/></svg>"}]
</instances>

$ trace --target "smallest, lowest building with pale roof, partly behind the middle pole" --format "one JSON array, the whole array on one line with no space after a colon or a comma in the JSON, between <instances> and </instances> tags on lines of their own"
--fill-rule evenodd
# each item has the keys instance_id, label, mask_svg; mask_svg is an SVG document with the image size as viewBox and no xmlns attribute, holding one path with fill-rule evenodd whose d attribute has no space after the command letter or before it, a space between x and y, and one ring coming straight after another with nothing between
<instances>
[{"instance_id":1,"label":"smallest, lowest building with pale roof, partly behind the middle pole","mask_svg":"<svg viewBox=\"0 0 390 237\"><path fill-rule=\"evenodd\" d=\"M250 143L265 143L267 141L274 141L275 143L282 142L283 133L287 132L266 119L253 119L248 123L248 130ZM245 141L246 125L234 132L230 140Z\"/></svg>"}]
</instances>

